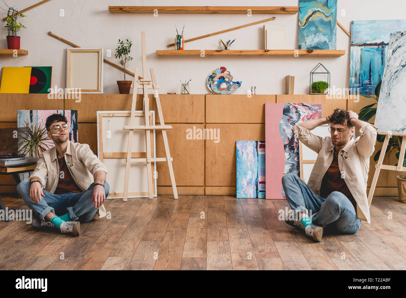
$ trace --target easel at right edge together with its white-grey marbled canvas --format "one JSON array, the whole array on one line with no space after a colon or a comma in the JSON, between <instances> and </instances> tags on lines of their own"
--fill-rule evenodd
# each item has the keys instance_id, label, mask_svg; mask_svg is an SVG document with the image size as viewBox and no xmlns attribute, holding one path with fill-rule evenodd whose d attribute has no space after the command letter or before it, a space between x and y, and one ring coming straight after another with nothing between
<instances>
[{"instance_id":1,"label":"easel at right edge together with its white-grey marbled canvas","mask_svg":"<svg viewBox=\"0 0 406 298\"><path fill-rule=\"evenodd\" d=\"M385 60L378 106L376 108L375 126L378 134L384 134L385 139L379 155L374 179L368 194L368 204L371 206L380 170L406 171L404 156L406 151L406 31L392 32L389 38L389 49ZM402 137L399 158L396 166L382 164L389 138Z\"/></svg>"}]
</instances>

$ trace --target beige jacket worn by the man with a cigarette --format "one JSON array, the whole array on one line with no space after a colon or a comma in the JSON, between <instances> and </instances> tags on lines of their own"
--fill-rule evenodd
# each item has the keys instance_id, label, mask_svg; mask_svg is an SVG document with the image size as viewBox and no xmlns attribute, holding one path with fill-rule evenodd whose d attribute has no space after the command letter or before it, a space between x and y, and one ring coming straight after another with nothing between
<instances>
[{"instance_id":1,"label":"beige jacket worn by the man with a cigarette","mask_svg":"<svg viewBox=\"0 0 406 298\"><path fill-rule=\"evenodd\" d=\"M107 173L107 168L97 158L87 144L72 143L68 140L66 147L65 161L67 167L76 184L85 191L94 182L95 172L102 170ZM31 177L39 177L41 184L45 185L45 190L54 193L59 179L59 163L56 158L56 147L52 147L41 153L37 162L37 167ZM99 217L106 216L106 209L100 206Z\"/></svg>"}]
</instances>

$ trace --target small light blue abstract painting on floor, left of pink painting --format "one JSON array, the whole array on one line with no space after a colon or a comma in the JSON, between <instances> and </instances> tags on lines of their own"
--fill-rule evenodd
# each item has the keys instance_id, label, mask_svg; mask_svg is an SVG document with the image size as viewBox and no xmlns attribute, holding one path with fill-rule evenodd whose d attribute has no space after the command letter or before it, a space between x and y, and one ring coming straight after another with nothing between
<instances>
[{"instance_id":1,"label":"small light blue abstract painting on floor, left of pink painting","mask_svg":"<svg viewBox=\"0 0 406 298\"><path fill-rule=\"evenodd\" d=\"M237 198L265 198L265 142L237 141Z\"/></svg>"}]
</instances>

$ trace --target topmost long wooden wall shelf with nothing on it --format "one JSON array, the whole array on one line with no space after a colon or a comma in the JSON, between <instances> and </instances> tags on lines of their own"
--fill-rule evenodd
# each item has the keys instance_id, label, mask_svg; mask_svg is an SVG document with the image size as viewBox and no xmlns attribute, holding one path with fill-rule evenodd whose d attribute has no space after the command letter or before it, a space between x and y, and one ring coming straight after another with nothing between
<instances>
[{"instance_id":1,"label":"topmost long wooden wall shelf with nothing on it","mask_svg":"<svg viewBox=\"0 0 406 298\"><path fill-rule=\"evenodd\" d=\"M298 6L108 6L110 13L229 13L294 15Z\"/></svg>"}]
</instances>

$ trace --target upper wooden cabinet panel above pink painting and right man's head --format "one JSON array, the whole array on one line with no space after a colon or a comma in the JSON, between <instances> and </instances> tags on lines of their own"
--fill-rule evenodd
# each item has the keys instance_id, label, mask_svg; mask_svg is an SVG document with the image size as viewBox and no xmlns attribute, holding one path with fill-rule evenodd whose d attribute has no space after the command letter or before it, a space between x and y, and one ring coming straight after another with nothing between
<instances>
[{"instance_id":1,"label":"upper wooden cabinet panel above pink painting and right man's head","mask_svg":"<svg viewBox=\"0 0 406 298\"><path fill-rule=\"evenodd\" d=\"M276 95L276 102L284 103L322 103L323 117L333 113L334 109L347 109L347 99L328 99L325 94L281 94Z\"/></svg>"}]
</instances>

